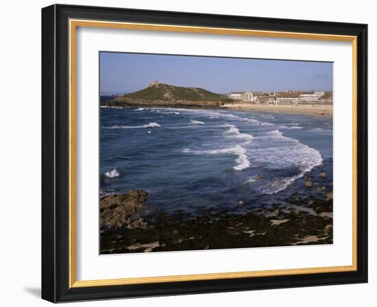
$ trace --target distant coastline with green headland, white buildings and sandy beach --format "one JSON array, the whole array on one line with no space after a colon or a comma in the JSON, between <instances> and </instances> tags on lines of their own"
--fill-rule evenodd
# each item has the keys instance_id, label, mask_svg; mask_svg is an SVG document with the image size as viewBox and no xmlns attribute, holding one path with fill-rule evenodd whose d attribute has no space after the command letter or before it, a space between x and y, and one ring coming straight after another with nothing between
<instances>
[{"instance_id":1,"label":"distant coastline with green headland, white buildings and sandy beach","mask_svg":"<svg viewBox=\"0 0 377 307\"><path fill-rule=\"evenodd\" d=\"M323 101L332 102L332 93L287 91L273 94L233 92L219 95L204 88L185 88L158 81L151 82L147 88L134 93L101 95L101 106L116 108L202 108L332 116L332 103Z\"/></svg>"}]
</instances>

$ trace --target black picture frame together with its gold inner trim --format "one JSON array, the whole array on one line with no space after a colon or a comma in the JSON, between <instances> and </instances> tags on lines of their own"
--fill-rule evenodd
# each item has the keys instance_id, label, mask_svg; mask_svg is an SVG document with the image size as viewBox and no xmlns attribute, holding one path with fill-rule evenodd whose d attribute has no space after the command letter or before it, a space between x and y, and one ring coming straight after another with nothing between
<instances>
[{"instance_id":1,"label":"black picture frame together with its gold inner trim","mask_svg":"<svg viewBox=\"0 0 377 307\"><path fill-rule=\"evenodd\" d=\"M76 30L80 27L352 44L352 265L77 280ZM203 47L205 48L205 47ZM167 51L169 53L169 51ZM352 63L351 63L352 62ZM110 257L110 256L108 256ZM273 260L271 260L273 261ZM367 25L77 5L42 9L42 298L49 302L367 282Z\"/></svg>"}]
</instances>

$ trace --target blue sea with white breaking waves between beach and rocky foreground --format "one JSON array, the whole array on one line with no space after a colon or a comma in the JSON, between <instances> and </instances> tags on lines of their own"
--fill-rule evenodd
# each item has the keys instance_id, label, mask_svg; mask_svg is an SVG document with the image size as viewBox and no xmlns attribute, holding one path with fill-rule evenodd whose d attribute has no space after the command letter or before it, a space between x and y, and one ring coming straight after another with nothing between
<instances>
[{"instance_id":1,"label":"blue sea with white breaking waves between beach and rocky foreground","mask_svg":"<svg viewBox=\"0 0 377 307\"><path fill-rule=\"evenodd\" d=\"M101 195L145 190L149 218L289 208L332 191L329 116L101 107L100 123Z\"/></svg>"}]
</instances>

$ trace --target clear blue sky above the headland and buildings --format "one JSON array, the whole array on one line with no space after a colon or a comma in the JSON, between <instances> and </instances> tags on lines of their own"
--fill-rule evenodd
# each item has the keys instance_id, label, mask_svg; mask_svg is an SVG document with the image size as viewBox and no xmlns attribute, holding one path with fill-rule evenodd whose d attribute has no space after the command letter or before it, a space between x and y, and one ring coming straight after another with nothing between
<instances>
[{"instance_id":1,"label":"clear blue sky above the headland and buildings","mask_svg":"<svg viewBox=\"0 0 377 307\"><path fill-rule=\"evenodd\" d=\"M232 91L332 90L332 63L99 53L100 92L132 93L149 83Z\"/></svg>"}]
</instances>

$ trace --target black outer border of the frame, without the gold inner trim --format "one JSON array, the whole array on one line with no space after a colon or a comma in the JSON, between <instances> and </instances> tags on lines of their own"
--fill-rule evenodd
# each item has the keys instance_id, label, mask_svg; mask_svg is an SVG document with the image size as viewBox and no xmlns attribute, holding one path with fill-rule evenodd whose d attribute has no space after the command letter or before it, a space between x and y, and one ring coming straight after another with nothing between
<instances>
[{"instance_id":1,"label":"black outer border of the frame, without the gold inner trim","mask_svg":"<svg viewBox=\"0 0 377 307\"><path fill-rule=\"evenodd\" d=\"M357 271L69 288L69 19L357 36ZM50 302L367 282L367 25L51 5L42 9L42 298Z\"/></svg>"}]
</instances>

